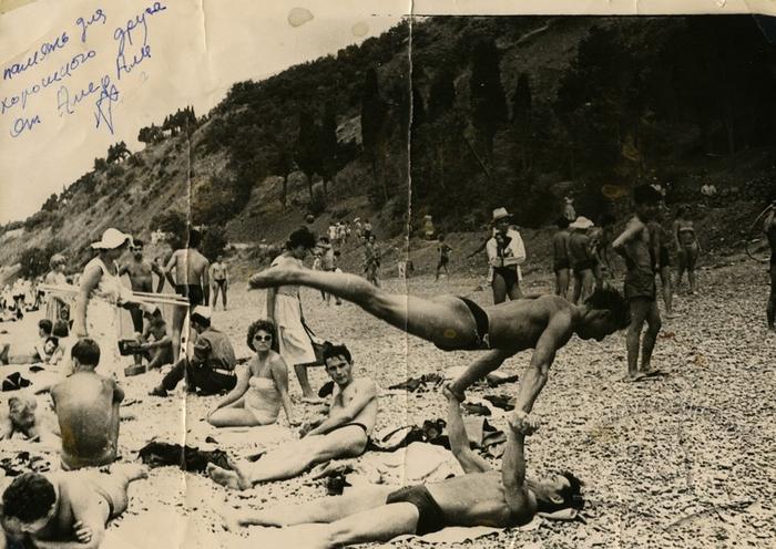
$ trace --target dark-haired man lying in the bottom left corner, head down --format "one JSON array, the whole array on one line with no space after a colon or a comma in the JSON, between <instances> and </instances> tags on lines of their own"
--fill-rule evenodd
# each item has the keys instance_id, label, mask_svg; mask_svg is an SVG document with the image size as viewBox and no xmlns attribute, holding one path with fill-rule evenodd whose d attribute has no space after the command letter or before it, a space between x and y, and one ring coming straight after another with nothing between
<instances>
[{"instance_id":1,"label":"dark-haired man lying in the bottom left corner, head down","mask_svg":"<svg viewBox=\"0 0 776 549\"><path fill-rule=\"evenodd\" d=\"M145 477L142 466L129 464L110 474L24 473L2 495L0 525L22 547L96 549L108 521L126 510L127 485Z\"/></svg>"}]
</instances>

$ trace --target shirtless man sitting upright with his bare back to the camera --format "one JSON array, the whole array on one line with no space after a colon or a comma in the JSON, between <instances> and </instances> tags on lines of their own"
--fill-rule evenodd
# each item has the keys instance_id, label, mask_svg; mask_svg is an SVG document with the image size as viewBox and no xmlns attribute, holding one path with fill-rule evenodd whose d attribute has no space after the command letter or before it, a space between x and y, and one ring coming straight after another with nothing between
<instances>
[{"instance_id":1,"label":"shirtless man sitting upright with his bare back to the camera","mask_svg":"<svg viewBox=\"0 0 776 549\"><path fill-rule=\"evenodd\" d=\"M51 390L62 433L62 468L106 465L116 457L124 391L94 372L100 362L94 340L79 340L71 355L73 373Z\"/></svg>"}]
</instances>

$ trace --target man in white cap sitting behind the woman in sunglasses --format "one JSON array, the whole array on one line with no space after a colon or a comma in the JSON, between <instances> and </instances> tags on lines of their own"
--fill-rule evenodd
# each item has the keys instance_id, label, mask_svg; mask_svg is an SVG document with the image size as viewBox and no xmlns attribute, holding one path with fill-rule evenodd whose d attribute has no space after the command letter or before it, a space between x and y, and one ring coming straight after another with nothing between
<instances>
[{"instance_id":1,"label":"man in white cap sitting behind the woman in sunglasses","mask_svg":"<svg viewBox=\"0 0 776 549\"><path fill-rule=\"evenodd\" d=\"M167 391L186 377L187 391L208 395L221 391L232 391L237 383L234 366L237 359L229 338L211 325L211 310L198 305L191 315L192 329L197 333L194 356L181 356L173 369L162 379L162 384L149 394L167 396Z\"/></svg>"}]
</instances>

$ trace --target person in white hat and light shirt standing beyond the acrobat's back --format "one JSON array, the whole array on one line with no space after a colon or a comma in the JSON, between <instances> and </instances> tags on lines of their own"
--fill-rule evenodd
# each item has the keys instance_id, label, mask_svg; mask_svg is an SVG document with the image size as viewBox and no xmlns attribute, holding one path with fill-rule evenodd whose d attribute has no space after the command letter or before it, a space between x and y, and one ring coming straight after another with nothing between
<instances>
[{"instance_id":1,"label":"person in white hat and light shirt standing beyond the acrobat's back","mask_svg":"<svg viewBox=\"0 0 776 549\"><path fill-rule=\"evenodd\" d=\"M507 301L508 296L511 300L523 296L520 290L520 263L525 261L525 247L520 232L509 226L511 217L507 208L493 210L493 237L486 245L496 304Z\"/></svg>"}]
</instances>

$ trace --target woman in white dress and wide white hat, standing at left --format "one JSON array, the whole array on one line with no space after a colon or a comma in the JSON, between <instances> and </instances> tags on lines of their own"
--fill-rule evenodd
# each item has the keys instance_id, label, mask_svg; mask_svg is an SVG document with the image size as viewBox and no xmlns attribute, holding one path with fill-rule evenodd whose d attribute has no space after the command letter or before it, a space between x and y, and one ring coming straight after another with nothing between
<instances>
[{"instance_id":1,"label":"woman in white dress and wide white hat, standing at left","mask_svg":"<svg viewBox=\"0 0 776 549\"><path fill-rule=\"evenodd\" d=\"M119 353L119 307L140 307L132 290L121 283L115 263L131 244L130 235L114 228L105 229L102 239L92 244L98 255L83 268L73 311L73 336L96 341L99 372L116 376L123 372Z\"/></svg>"}]
</instances>

